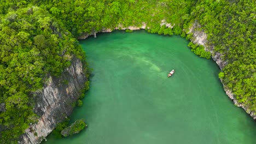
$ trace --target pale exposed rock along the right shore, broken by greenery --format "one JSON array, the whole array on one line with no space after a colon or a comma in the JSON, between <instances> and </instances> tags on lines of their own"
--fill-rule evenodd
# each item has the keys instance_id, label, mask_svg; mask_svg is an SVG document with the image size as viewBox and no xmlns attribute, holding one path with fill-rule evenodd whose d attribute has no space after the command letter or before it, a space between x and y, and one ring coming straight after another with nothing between
<instances>
[{"instance_id":1,"label":"pale exposed rock along the right shore, broken by greenery","mask_svg":"<svg viewBox=\"0 0 256 144\"><path fill-rule=\"evenodd\" d=\"M202 30L199 30L200 28L201 26L197 22L195 22L193 26L190 27L188 33L193 34L193 38L191 39L191 41L194 44L203 45L206 51L210 51L212 53L212 59L219 65L220 69L223 69L225 65L228 64L228 62L223 61L221 53L215 52L214 47L211 45L208 45L207 34ZM245 104L238 103L235 95L230 91L230 89L228 89L228 87L224 85L223 81L221 82L223 84L226 95L228 95L228 97L233 101L233 103L238 107L242 107L246 111L246 113L248 113L251 117L253 117L253 119L256 119L256 112L250 110Z\"/></svg>"}]
</instances>

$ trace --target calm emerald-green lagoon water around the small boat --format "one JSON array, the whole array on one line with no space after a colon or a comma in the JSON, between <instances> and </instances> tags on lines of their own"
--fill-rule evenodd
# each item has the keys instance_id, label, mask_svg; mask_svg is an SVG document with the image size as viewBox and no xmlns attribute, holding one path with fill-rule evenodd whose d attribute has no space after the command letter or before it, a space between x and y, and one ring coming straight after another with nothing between
<instances>
[{"instance_id":1,"label":"calm emerald-green lagoon water around the small boat","mask_svg":"<svg viewBox=\"0 0 256 144\"><path fill-rule=\"evenodd\" d=\"M71 119L88 128L44 143L256 143L256 123L225 94L216 63L187 40L117 31L80 44L94 70Z\"/></svg>"}]
</instances>

